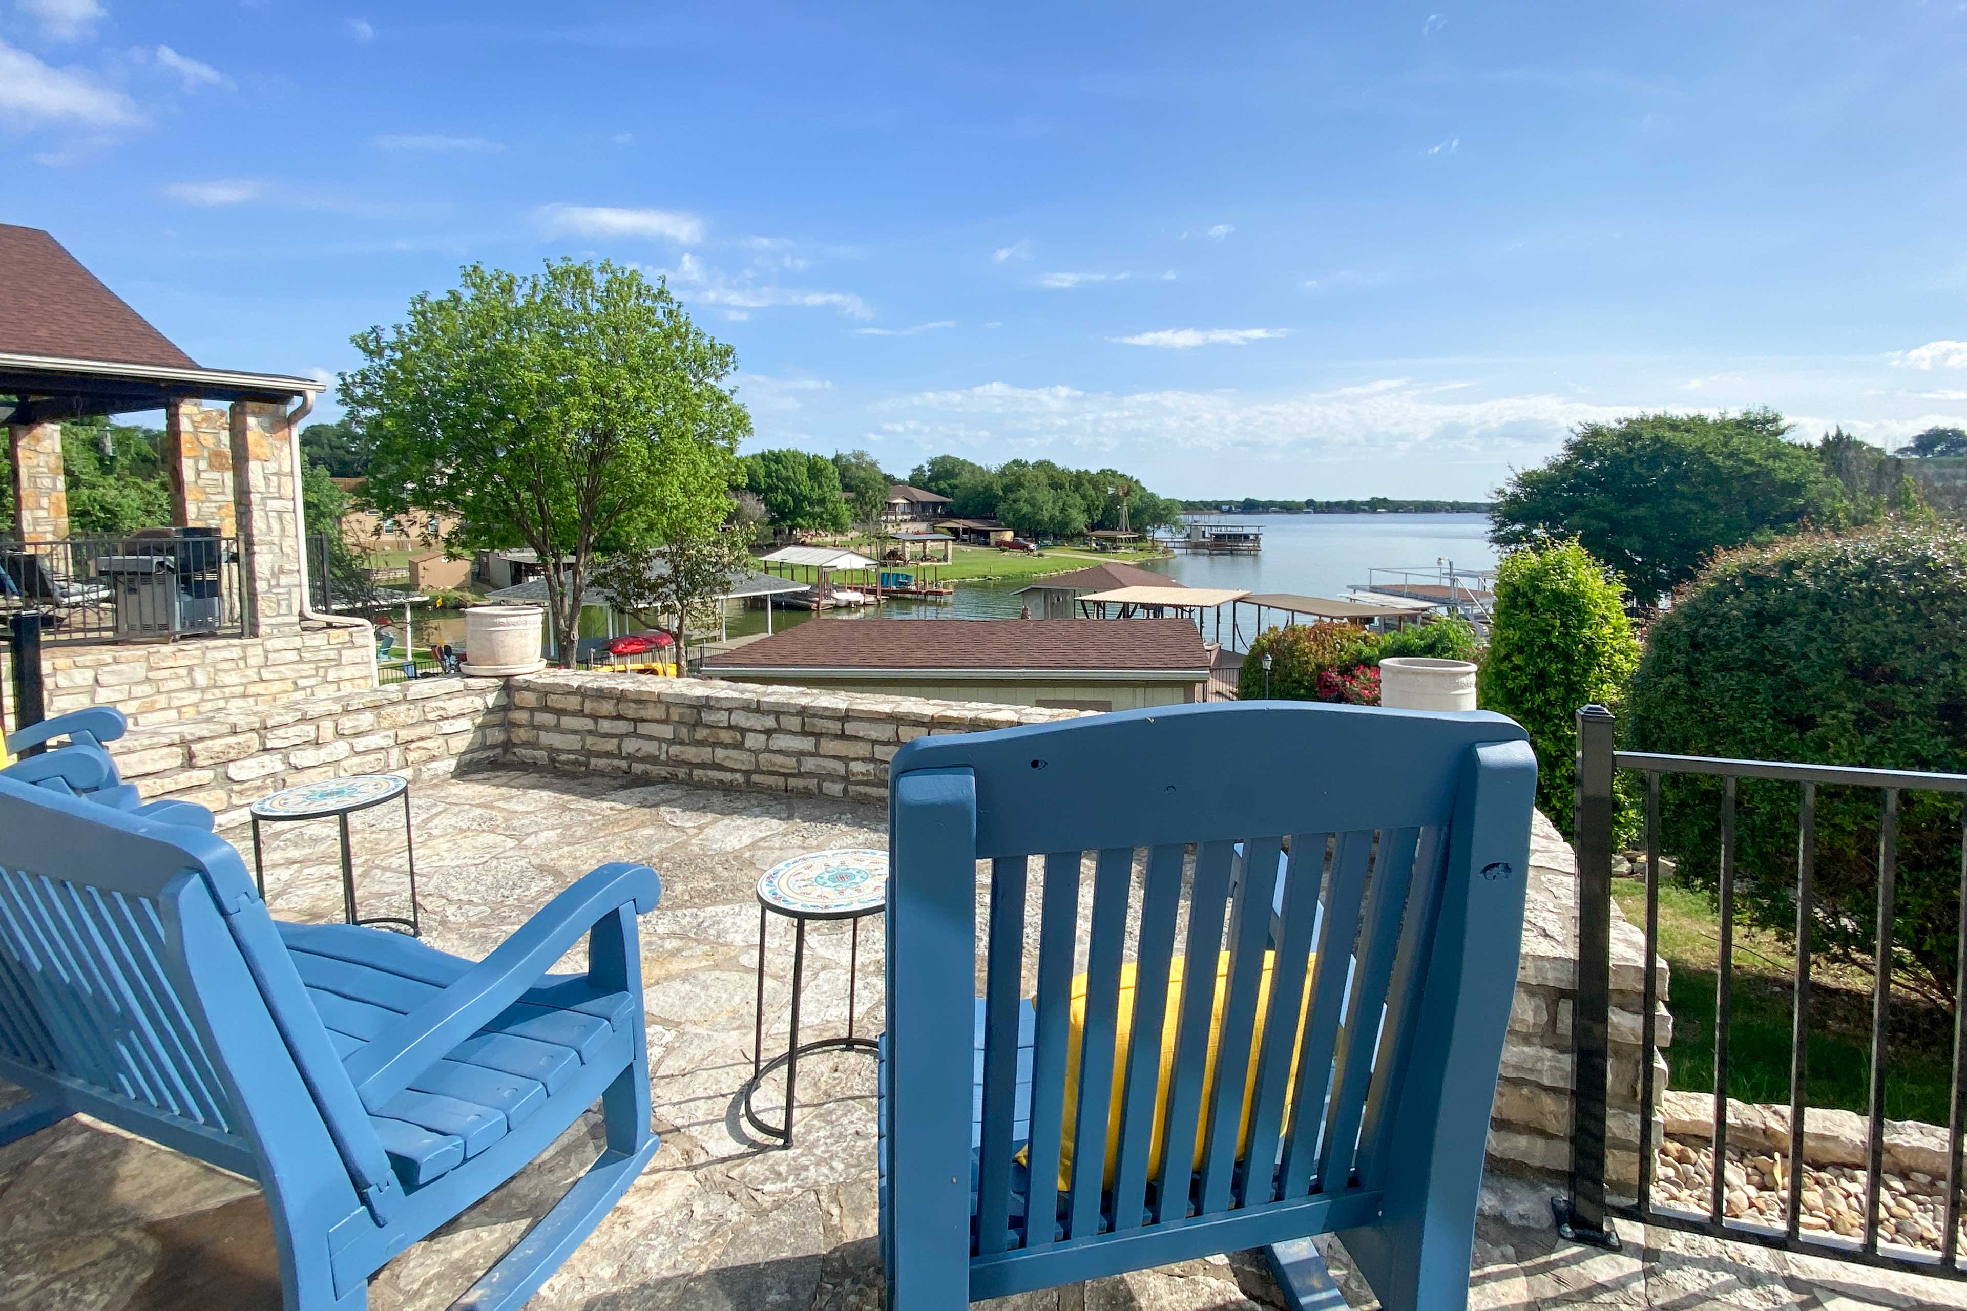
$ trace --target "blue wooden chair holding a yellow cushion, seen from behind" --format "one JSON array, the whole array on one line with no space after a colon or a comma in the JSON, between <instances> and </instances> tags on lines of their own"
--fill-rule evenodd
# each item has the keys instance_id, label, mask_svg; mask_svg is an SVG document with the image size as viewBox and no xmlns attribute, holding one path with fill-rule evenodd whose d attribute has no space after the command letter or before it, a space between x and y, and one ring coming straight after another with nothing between
<instances>
[{"instance_id":1,"label":"blue wooden chair holding a yellow cushion, seen from behind","mask_svg":"<svg viewBox=\"0 0 1967 1311\"><path fill-rule=\"evenodd\" d=\"M1182 706L921 737L891 769L893 1311L1241 1248L1341 1307L1320 1232L1389 1311L1467 1305L1536 784L1517 723Z\"/></svg>"}]
</instances>

